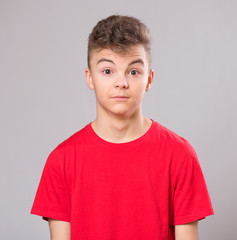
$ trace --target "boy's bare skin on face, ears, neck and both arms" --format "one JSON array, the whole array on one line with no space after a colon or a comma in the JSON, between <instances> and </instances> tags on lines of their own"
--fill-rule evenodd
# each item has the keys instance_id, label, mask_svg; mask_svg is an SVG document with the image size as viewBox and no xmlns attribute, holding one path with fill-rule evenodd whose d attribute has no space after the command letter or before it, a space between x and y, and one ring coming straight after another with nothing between
<instances>
[{"instance_id":1,"label":"boy's bare skin on face, ears, neck and both arms","mask_svg":"<svg viewBox=\"0 0 237 240\"><path fill-rule=\"evenodd\" d=\"M110 49L94 51L91 69L85 69L89 89L95 91L96 119L92 128L98 136L113 143L123 143L142 136L151 120L142 114L142 100L149 91L154 71L149 67L142 45L132 46L126 53ZM128 98L119 101L114 97ZM70 223L49 219L51 240L69 240ZM198 221L176 225L176 240L198 240Z\"/></svg>"}]
</instances>

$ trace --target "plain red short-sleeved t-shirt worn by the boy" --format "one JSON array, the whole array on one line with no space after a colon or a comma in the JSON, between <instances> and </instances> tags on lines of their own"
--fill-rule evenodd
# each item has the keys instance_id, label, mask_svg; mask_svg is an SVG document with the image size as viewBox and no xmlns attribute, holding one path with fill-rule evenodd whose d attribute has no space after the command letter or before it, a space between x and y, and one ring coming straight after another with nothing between
<instances>
[{"instance_id":1,"label":"plain red short-sleeved t-shirt worn by the boy","mask_svg":"<svg viewBox=\"0 0 237 240\"><path fill-rule=\"evenodd\" d=\"M152 120L130 142L108 142L89 123L60 143L31 214L70 222L71 240L169 240L174 225L214 212L193 147Z\"/></svg>"}]
</instances>

